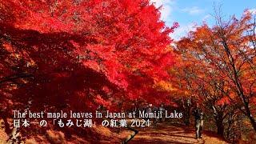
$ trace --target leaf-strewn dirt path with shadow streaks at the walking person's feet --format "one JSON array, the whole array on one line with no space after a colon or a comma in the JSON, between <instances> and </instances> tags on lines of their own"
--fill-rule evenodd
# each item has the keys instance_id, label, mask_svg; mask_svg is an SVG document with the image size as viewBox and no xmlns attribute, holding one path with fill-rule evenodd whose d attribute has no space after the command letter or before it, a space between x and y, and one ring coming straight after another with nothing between
<instances>
[{"instance_id":1,"label":"leaf-strewn dirt path with shadow streaks at the walking person's feet","mask_svg":"<svg viewBox=\"0 0 256 144\"><path fill-rule=\"evenodd\" d=\"M227 143L222 138L218 138L217 134L212 132L204 132L202 139L196 139L194 129L178 125L158 124L158 126L150 126L138 129L139 133L128 142L132 143Z\"/></svg>"}]
</instances>

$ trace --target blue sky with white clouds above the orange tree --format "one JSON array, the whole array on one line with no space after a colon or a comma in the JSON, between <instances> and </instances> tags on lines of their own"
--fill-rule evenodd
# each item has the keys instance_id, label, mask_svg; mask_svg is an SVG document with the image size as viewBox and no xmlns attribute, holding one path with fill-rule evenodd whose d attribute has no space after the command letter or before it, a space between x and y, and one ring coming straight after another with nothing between
<instances>
[{"instance_id":1,"label":"blue sky with white clouds above the orange tree","mask_svg":"<svg viewBox=\"0 0 256 144\"><path fill-rule=\"evenodd\" d=\"M194 30L195 26L206 22L214 25L214 6L221 8L222 16L229 19L235 15L241 18L244 10L256 14L256 0L150 0L156 7L162 6L161 19L167 26L178 22L179 27L170 34L171 38L178 40L186 36L187 32Z\"/></svg>"}]
</instances>

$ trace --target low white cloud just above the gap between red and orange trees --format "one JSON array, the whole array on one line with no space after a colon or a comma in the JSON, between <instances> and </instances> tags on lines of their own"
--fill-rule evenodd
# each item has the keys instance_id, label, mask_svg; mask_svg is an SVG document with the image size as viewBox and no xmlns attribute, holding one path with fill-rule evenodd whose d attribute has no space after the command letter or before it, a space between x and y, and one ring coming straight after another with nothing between
<instances>
[{"instance_id":1,"label":"low white cloud just above the gap between red and orange trees","mask_svg":"<svg viewBox=\"0 0 256 144\"><path fill-rule=\"evenodd\" d=\"M170 38L173 38L175 41L178 41L180 38L186 36L190 31L196 30L197 26L194 22L179 26L174 30L174 33L170 34Z\"/></svg>"}]
</instances>

